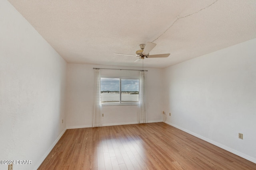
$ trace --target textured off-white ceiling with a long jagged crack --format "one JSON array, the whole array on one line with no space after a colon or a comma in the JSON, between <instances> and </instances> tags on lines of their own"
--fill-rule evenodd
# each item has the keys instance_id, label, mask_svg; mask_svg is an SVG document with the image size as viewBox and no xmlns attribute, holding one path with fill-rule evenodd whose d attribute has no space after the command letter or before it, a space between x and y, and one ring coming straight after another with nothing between
<instances>
[{"instance_id":1,"label":"textured off-white ceiling with a long jagged crack","mask_svg":"<svg viewBox=\"0 0 256 170\"><path fill-rule=\"evenodd\" d=\"M256 0L9 0L68 63L164 68L256 38Z\"/></svg>"}]
</instances>

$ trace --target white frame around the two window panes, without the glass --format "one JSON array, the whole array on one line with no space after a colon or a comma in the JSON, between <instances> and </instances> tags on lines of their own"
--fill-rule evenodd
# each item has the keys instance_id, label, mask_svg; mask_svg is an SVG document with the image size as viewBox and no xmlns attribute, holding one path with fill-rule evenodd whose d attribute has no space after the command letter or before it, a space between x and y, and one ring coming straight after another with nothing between
<instances>
[{"instance_id":1,"label":"white frame around the two window panes, without the glass","mask_svg":"<svg viewBox=\"0 0 256 170\"><path fill-rule=\"evenodd\" d=\"M122 106L122 105L128 106L128 105L138 105L139 104L139 102L123 102L122 103L122 98L121 98L121 94L122 94L121 80L122 79L140 80L139 77L100 76L100 78L119 78L119 103L101 103L102 106ZM139 81L139 83L140 83L140 81ZM140 84L139 84L139 86L140 86ZM101 91L101 89L100 89L100 91Z\"/></svg>"}]
</instances>

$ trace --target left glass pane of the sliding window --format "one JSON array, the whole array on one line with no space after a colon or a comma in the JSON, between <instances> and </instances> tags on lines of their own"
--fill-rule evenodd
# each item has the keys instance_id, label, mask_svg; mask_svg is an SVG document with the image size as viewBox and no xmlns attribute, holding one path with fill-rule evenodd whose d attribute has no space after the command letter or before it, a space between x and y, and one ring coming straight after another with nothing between
<instances>
[{"instance_id":1,"label":"left glass pane of the sliding window","mask_svg":"<svg viewBox=\"0 0 256 170\"><path fill-rule=\"evenodd\" d=\"M100 78L102 103L119 103L119 80L119 78Z\"/></svg>"}]
</instances>

